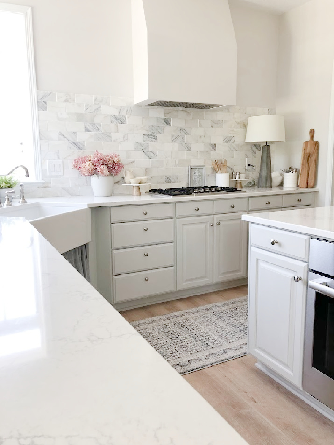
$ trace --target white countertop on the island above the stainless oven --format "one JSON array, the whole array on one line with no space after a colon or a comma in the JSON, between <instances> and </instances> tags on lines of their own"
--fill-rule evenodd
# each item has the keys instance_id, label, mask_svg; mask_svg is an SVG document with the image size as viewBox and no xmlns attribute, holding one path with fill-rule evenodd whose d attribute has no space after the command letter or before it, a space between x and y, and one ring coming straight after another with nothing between
<instances>
[{"instance_id":1,"label":"white countertop on the island above the stainless oven","mask_svg":"<svg viewBox=\"0 0 334 445\"><path fill-rule=\"evenodd\" d=\"M242 219L269 227L334 240L334 207L244 214Z\"/></svg>"}]
</instances>

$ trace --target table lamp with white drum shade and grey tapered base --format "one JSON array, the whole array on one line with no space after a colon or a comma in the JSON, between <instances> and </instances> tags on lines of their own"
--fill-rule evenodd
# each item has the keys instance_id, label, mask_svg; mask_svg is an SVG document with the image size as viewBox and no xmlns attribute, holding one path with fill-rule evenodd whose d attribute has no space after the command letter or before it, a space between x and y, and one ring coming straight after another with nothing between
<instances>
[{"instance_id":1,"label":"table lamp with white drum shade and grey tapered base","mask_svg":"<svg viewBox=\"0 0 334 445\"><path fill-rule=\"evenodd\" d=\"M285 142L284 116L252 116L248 117L245 142L264 142L262 147L258 187L270 188L271 156L270 142Z\"/></svg>"}]
</instances>

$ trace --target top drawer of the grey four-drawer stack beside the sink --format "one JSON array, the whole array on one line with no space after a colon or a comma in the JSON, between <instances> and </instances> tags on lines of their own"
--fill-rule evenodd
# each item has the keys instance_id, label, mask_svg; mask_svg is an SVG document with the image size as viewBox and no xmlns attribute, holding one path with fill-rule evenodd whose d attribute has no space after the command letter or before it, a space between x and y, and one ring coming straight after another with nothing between
<instances>
[{"instance_id":1,"label":"top drawer of the grey four-drawer stack beside the sink","mask_svg":"<svg viewBox=\"0 0 334 445\"><path fill-rule=\"evenodd\" d=\"M110 208L112 223L126 223L126 221L138 221L140 219L173 218L174 204L148 204L140 206L119 206Z\"/></svg>"}]
</instances>

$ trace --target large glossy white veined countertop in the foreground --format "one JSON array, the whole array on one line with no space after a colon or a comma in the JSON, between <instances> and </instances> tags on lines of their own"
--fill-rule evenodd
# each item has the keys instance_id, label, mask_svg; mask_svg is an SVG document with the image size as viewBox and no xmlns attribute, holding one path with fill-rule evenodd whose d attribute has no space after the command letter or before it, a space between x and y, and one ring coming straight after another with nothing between
<instances>
[{"instance_id":1,"label":"large glossy white veined countertop in the foreground","mask_svg":"<svg viewBox=\"0 0 334 445\"><path fill-rule=\"evenodd\" d=\"M246 444L24 218L0 274L0 443Z\"/></svg>"}]
</instances>

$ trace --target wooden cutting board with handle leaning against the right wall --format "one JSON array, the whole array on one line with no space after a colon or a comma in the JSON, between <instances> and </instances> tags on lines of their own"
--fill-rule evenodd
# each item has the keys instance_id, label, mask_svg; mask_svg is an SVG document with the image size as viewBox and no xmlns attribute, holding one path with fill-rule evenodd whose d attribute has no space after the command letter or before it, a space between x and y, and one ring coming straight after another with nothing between
<instances>
[{"instance_id":1,"label":"wooden cutting board with handle leaning against the right wall","mask_svg":"<svg viewBox=\"0 0 334 445\"><path fill-rule=\"evenodd\" d=\"M310 129L310 140L304 142L301 152L298 186L303 189L314 187L318 153L319 141L314 141L314 129Z\"/></svg>"}]
</instances>

